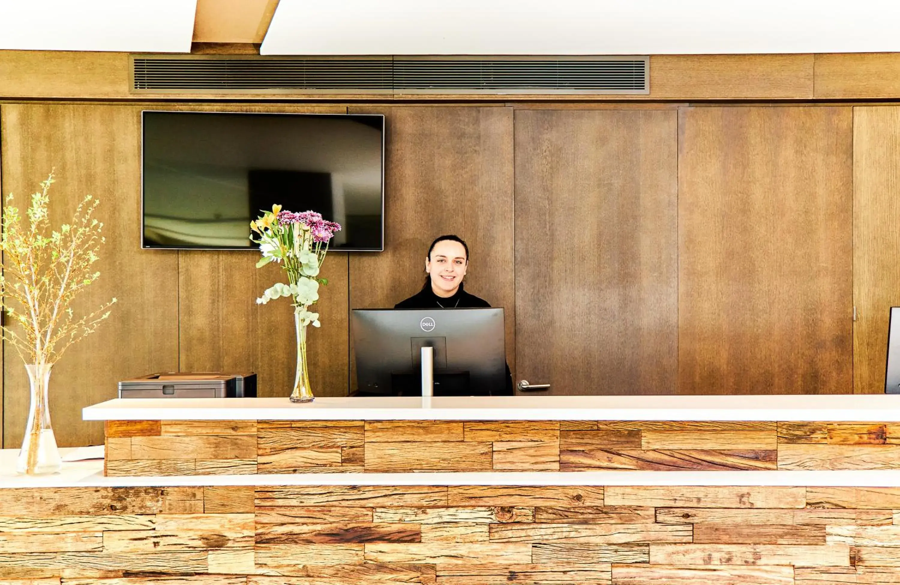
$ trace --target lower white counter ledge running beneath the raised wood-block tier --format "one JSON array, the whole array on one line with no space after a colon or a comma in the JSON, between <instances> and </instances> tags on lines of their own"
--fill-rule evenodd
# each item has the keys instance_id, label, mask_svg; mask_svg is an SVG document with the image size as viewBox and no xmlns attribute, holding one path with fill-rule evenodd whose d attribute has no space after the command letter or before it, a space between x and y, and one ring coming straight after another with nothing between
<instances>
[{"instance_id":1,"label":"lower white counter ledge running beneath the raised wood-block tier","mask_svg":"<svg viewBox=\"0 0 900 585\"><path fill-rule=\"evenodd\" d=\"M66 453L70 449L60 449ZM64 463L60 473L15 473L18 449L0 450L0 489L218 485L626 485L898 487L900 471L296 473L104 477L103 460Z\"/></svg>"}]
</instances>

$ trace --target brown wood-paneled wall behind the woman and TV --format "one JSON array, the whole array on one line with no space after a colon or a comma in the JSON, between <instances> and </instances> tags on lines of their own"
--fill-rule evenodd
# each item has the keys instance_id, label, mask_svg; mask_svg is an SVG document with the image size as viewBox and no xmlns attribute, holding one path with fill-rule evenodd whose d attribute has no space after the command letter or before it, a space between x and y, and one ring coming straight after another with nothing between
<instances>
[{"instance_id":1,"label":"brown wood-paneled wall behind the woman and TV","mask_svg":"<svg viewBox=\"0 0 900 585\"><path fill-rule=\"evenodd\" d=\"M329 256L316 392L343 395L352 381L349 309L415 293L443 232L472 247L471 292L507 309L517 380L561 393L853 392L855 336L855 392L882 392L900 279L900 108L610 107L352 106L387 116L387 250ZM140 110L0 104L4 193L28 195L55 166L57 217L84 193L103 201L103 276L81 302L120 303L53 374L64 446L103 439L80 409L112 398L122 377L249 368L262 395L284 396L293 375L289 311L253 302L276 267L257 271L252 253L139 249ZM17 446L27 383L6 349L4 446Z\"/></svg>"}]
</instances>

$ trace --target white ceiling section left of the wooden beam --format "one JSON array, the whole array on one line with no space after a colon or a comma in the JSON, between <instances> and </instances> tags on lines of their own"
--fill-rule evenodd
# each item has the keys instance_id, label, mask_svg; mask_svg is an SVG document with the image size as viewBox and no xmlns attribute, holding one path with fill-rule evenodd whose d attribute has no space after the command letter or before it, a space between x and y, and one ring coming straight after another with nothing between
<instances>
[{"instance_id":1,"label":"white ceiling section left of the wooden beam","mask_svg":"<svg viewBox=\"0 0 900 585\"><path fill-rule=\"evenodd\" d=\"M197 0L0 0L0 49L191 52Z\"/></svg>"}]
</instances>

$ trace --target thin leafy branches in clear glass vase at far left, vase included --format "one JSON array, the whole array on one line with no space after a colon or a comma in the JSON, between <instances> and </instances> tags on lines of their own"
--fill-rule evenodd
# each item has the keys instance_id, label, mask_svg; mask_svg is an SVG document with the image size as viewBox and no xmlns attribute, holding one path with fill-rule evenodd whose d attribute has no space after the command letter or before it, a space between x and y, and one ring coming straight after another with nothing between
<instances>
[{"instance_id":1,"label":"thin leafy branches in clear glass vase at far left, vase included","mask_svg":"<svg viewBox=\"0 0 900 585\"><path fill-rule=\"evenodd\" d=\"M3 338L22 357L31 386L28 422L16 464L18 473L29 475L56 473L61 467L47 392L53 365L68 347L93 333L116 302L113 298L81 317L73 311L76 295L100 276L93 266L104 242L103 223L94 218L100 202L85 196L72 221L52 229L48 192L53 182L50 173L40 191L31 195L27 223L10 193L0 235Z\"/></svg>"}]
</instances>

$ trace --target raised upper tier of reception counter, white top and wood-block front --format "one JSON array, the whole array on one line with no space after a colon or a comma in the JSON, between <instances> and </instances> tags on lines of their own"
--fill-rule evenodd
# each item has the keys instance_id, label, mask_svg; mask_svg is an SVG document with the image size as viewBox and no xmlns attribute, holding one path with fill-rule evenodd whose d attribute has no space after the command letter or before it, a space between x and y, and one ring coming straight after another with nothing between
<instances>
[{"instance_id":1,"label":"raised upper tier of reception counter, white top and wood-block front","mask_svg":"<svg viewBox=\"0 0 900 585\"><path fill-rule=\"evenodd\" d=\"M900 468L900 396L434 400L118 400L85 419L106 421L112 476Z\"/></svg>"}]
</instances>

